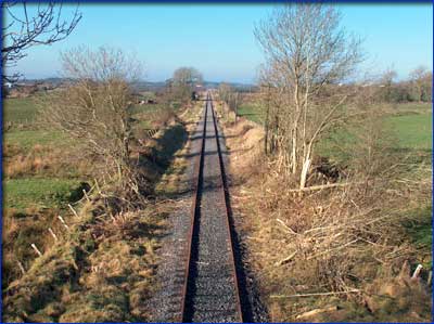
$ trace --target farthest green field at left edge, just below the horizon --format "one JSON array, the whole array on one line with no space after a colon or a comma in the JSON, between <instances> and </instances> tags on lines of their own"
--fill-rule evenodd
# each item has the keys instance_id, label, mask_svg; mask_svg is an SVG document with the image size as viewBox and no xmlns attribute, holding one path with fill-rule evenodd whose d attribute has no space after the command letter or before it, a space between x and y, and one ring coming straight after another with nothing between
<instances>
[{"instance_id":1,"label":"farthest green field at left edge, just below the horizon","mask_svg":"<svg viewBox=\"0 0 434 324\"><path fill-rule=\"evenodd\" d=\"M31 124L38 114L34 98L13 98L3 101L4 122Z\"/></svg>"}]
</instances>

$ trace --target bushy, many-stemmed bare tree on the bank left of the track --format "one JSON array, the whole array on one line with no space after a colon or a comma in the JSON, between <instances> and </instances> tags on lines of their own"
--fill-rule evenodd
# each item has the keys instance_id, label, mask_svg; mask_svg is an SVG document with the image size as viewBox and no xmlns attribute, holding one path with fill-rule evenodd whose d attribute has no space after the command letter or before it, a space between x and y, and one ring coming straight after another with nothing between
<instances>
[{"instance_id":1,"label":"bushy, many-stemmed bare tree on the bank left of the track","mask_svg":"<svg viewBox=\"0 0 434 324\"><path fill-rule=\"evenodd\" d=\"M50 95L43 117L105 161L104 171L126 193L138 193L130 163L132 92L140 65L122 50L78 48L62 54L72 85Z\"/></svg>"}]
</instances>

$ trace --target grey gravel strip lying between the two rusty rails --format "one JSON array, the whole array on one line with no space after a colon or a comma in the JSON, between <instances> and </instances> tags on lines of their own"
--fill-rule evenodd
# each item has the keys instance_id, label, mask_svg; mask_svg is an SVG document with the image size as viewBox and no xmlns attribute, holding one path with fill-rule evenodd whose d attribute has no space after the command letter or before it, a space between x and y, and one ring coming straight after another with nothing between
<instances>
[{"instance_id":1,"label":"grey gravel strip lying between the two rusty rails","mask_svg":"<svg viewBox=\"0 0 434 324\"><path fill-rule=\"evenodd\" d=\"M206 109L206 133L199 208L193 234L187 322L237 322L237 283L227 225L227 209L210 101Z\"/></svg>"}]
</instances>

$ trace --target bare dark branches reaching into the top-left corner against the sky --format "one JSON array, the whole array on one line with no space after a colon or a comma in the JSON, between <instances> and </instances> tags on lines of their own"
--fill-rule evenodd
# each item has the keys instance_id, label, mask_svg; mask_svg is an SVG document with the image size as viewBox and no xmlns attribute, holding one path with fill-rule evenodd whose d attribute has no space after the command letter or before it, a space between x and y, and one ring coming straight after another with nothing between
<instances>
[{"instance_id":1,"label":"bare dark branches reaching into the top-left corner against the sky","mask_svg":"<svg viewBox=\"0 0 434 324\"><path fill-rule=\"evenodd\" d=\"M50 46L63 40L81 20L78 7L69 20L63 18L63 5L53 1L28 5L25 1L4 1L1 3L2 28L2 65L3 68L15 67L17 62L27 55L26 50L34 46ZM3 73L3 81L16 81L20 73Z\"/></svg>"}]
</instances>

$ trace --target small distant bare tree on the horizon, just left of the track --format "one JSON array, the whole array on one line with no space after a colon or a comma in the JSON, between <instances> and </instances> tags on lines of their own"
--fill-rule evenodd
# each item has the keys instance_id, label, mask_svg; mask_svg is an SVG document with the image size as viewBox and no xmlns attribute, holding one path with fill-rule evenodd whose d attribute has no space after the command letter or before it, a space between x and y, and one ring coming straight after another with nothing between
<instances>
[{"instance_id":1,"label":"small distant bare tree on the horizon, just left of the track","mask_svg":"<svg viewBox=\"0 0 434 324\"><path fill-rule=\"evenodd\" d=\"M175 70L169 82L169 91L176 100L187 102L191 99L194 87L202 82L202 74L194 67L180 67Z\"/></svg>"}]
</instances>

